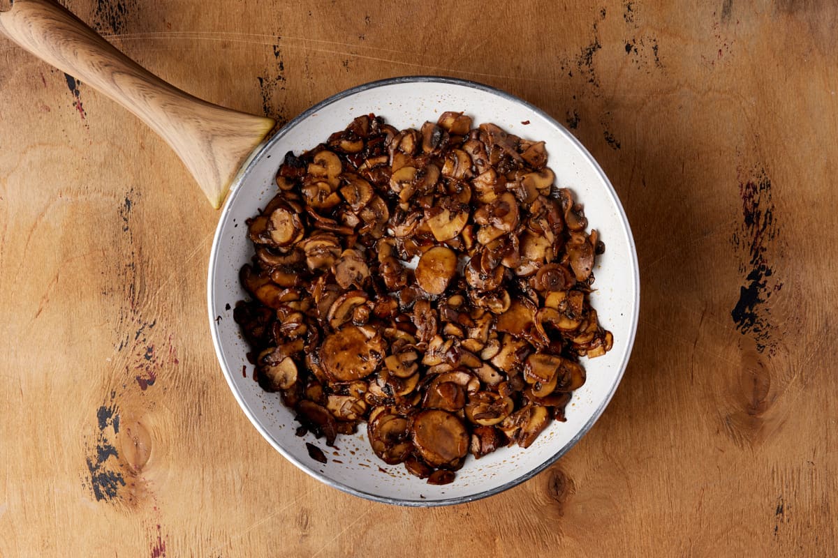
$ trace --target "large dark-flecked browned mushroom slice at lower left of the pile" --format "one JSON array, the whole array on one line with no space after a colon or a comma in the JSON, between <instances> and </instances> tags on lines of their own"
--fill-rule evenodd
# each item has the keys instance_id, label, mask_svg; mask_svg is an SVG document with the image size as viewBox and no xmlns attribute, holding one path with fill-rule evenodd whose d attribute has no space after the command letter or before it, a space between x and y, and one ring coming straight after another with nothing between
<instances>
[{"instance_id":1,"label":"large dark-flecked browned mushroom slice at lower left of the pile","mask_svg":"<svg viewBox=\"0 0 838 558\"><path fill-rule=\"evenodd\" d=\"M320 362L332 381L354 381L370 376L381 363L384 340L370 338L357 325L344 325L327 335L320 346Z\"/></svg>"}]
</instances>

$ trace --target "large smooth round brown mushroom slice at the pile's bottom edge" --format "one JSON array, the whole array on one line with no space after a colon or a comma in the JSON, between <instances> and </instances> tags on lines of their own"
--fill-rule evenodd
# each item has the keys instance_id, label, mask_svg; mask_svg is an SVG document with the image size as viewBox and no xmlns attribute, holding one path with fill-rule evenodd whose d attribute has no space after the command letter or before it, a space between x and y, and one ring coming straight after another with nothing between
<instances>
[{"instance_id":1,"label":"large smooth round brown mushroom slice at the pile's bottom edge","mask_svg":"<svg viewBox=\"0 0 838 558\"><path fill-rule=\"evenodd\" d=\"M450 412L430 409L413 417L411 439L422 459L432 467L458 461L468 453L468 430Z\"/></svg>"}]
</instances>

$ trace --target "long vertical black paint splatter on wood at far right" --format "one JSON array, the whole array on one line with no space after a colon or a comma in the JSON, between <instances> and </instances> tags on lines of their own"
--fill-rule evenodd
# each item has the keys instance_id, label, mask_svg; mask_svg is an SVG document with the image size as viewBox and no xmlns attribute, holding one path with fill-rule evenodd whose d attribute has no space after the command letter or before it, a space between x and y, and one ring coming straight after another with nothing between
<instances>
[{"instance_id":1,"label":"long vertical black paint splatter on wood at far right","mask_svg":"<svg viewBox=\"0 0 838 558\"><path fill-rule=\"evenodd\" d=\"M742 197L742 226L732 237L734 246L747 253L740 265L745 284L739 288L739 299L731 310L731 317L742 335L751 335L760 353L775 351L773 333L776 325L771 317L768 299L783 288L768 262L768 250L777 238L779 229L774 223L771 200L771 180L764 168L739 184Z\"/></svg>"}]
</instances>

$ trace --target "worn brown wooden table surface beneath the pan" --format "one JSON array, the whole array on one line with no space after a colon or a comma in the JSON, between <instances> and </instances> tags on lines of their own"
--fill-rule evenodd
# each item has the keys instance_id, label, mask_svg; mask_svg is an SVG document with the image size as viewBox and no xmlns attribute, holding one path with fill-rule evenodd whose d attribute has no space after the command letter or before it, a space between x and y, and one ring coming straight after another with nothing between
<instances>
[{"instance_id":1,"label":"worn brown wooden table surface beneath the pan","mask_svg":"<svg viewBox=\"0 0 838 558\"><path fill-rule=\"evenodd\" d=\"M623 382L554 466L442 509L328 488L256 433L209 337L219 212L0 40L0 556L835 555L838 8L582 4L65 2L220 105L285 121L450 75L600 161L641 269Z\"/></svg>"}]
</instances>

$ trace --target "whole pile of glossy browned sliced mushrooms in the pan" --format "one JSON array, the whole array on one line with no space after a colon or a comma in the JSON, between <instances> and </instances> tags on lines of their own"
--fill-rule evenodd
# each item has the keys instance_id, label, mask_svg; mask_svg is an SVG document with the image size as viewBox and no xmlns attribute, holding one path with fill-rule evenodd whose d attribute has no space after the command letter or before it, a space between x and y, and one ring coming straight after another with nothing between
<instances>
[{"instance_id":1,"label":"whole pile of glossy browned sliced mushrooms in the pan","mask_svg":"<svg viewBox=\"0 0 838 558\"><path fill-rule=\"evenodd\" d=\"M365 422L385 463L445 484L564 420L578 358L612 335L588 300L603 243L546 162L543 141L455 112L403 131L360 116L287 154L247 222L234 316L301 435Z\"/></svg>"}]
</instances>

